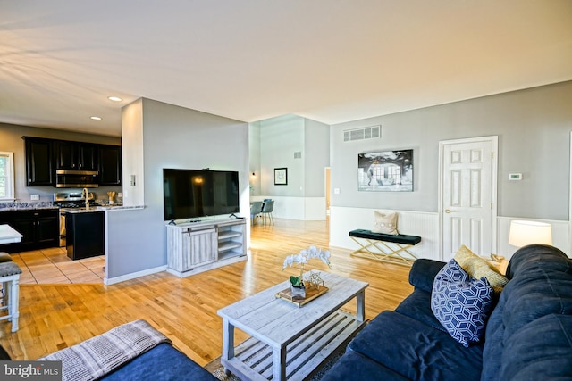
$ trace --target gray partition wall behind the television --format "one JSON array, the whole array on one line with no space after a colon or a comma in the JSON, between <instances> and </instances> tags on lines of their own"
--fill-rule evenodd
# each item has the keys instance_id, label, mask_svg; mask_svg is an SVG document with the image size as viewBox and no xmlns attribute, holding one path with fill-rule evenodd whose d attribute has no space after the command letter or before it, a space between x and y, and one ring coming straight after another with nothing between
<instances>
[{"instance_id":1,"label":"gray partition wall behind the television","mask_svg":"<svg viewBox=\"0 0 572 381\"><path fill-rule=\"evenodd\" d=\"M108 278L166 265L163 169L238 170L248 216L248 124L143 99L145 209L108 214ZM129 145L129 142L124 142Z\"/></svg>"}]
</instances>

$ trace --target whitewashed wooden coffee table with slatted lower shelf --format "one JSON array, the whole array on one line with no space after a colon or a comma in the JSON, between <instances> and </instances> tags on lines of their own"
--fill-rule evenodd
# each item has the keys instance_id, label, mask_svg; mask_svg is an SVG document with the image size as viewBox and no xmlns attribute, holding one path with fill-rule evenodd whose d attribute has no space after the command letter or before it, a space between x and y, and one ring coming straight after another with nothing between
<instances>
[{"instance_id":1,"label":"whitewashed wooden coffee table with slatted lower shelf","mask_svg":"<svg viewBox=\"0 0 572 381\"><path fill-rule=\"evenodd\" d=\"M304 379L365 326L365 291L369 286L347 277L322 273L329 291L298 305L277 299L288 281L235 302L218 311L223 318L226 372L243 380ZM357 314L340 311L357 300ZM251 335L234 346L234 328Z\"/></svg>"}]
</instances>

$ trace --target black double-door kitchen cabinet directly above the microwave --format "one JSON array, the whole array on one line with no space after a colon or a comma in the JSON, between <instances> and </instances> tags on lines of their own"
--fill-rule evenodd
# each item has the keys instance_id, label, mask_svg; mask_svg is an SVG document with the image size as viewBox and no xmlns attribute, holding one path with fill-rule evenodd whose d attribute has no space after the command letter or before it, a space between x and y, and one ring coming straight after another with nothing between
<instances>
[{"instance_id":1,"label":"black double-door kitchen cabinet directly above the microwave","mask_svg":"<svg viewBox=\"0 0 572 381\"><path fill-rule=\"evenodd\" d=\"M59 140L55 142L56 170L97 170L97 145Z\"/></svg>"}]
</instances>

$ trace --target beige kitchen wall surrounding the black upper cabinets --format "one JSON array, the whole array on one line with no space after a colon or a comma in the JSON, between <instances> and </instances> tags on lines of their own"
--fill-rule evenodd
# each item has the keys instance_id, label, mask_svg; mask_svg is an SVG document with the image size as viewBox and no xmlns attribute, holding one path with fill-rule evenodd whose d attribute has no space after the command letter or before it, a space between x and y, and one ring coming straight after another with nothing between
<instances>
[{"instance_id":1,"label":"beige kitchen wall surrounding the black upper cabinets","mask_svg":"<svg viewBox=\"0 0 572 381\"><path fill-rule=\"evenodd\" d=\"M20 202L29 202L30 195L40 195L41 201L51 201L53 200L54 192L62 192L65 190L58 190L51 186L26 186L26 155L24 141L21 137L48 137L52 139L73 140L103 145L121 145L122 143L121 138L119 137L105 137L100 135L68 132L58 129L35 128L0 123L0 151L14 153L14 192L16 198ZM121 192L121 187L107 186L93 189L97 195L104 198L107 197L107 190Z\"/></svg>"}]
</instances>

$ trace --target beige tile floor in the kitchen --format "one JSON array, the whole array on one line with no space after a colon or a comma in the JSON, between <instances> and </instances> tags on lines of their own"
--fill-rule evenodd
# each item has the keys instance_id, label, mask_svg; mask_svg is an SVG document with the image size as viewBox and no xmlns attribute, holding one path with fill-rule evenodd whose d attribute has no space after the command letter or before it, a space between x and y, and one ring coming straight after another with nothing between
<instances>
[{"instance_id":1,"label":"beige tile floor in the kitchen","mask_svg":"<svg viewBox=\"0 0 572 381\"><path fill-rule=\"evenodd\" d=\"M32 252L13 253L21 268L21 285L103 283L105 255L71 261L65 248L51 247Z\"/></svg>"}]
</instances>

